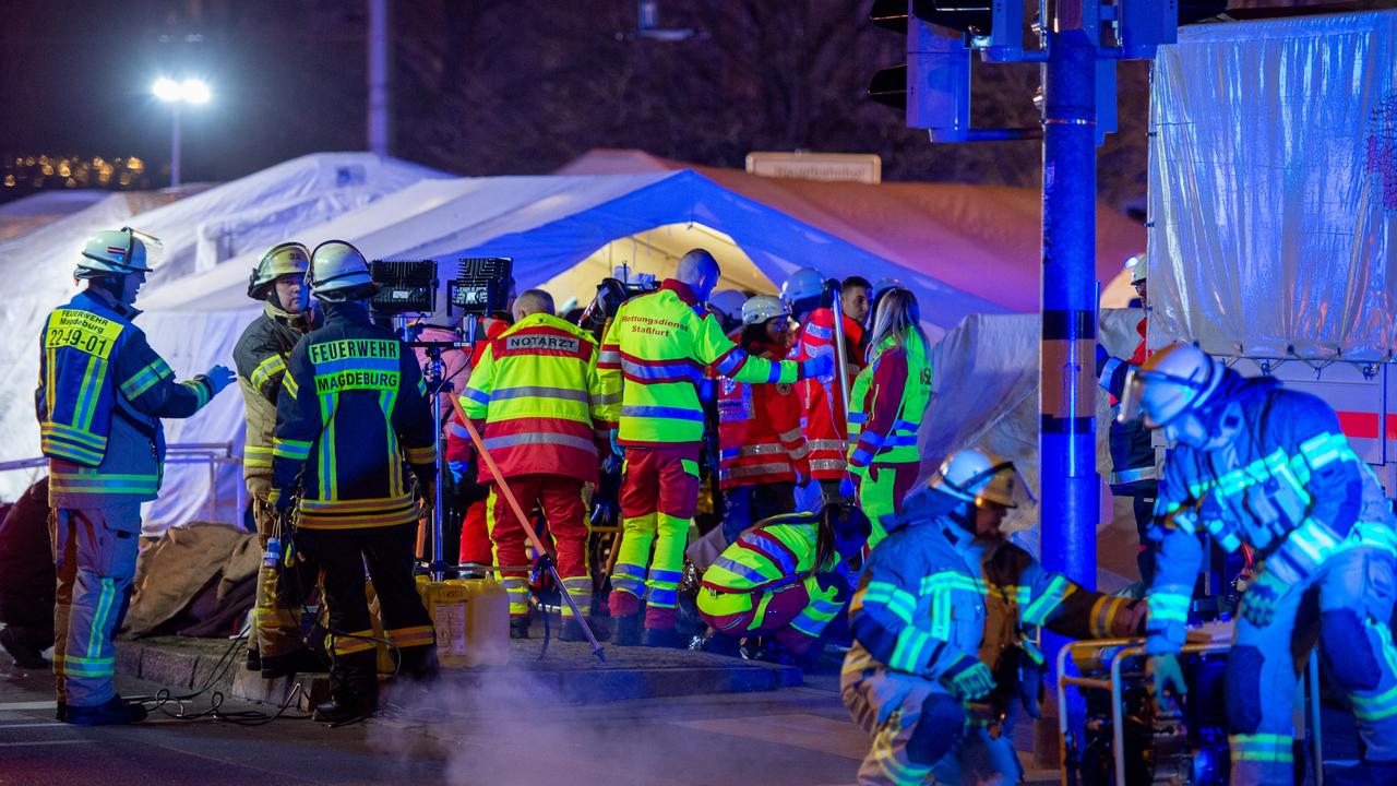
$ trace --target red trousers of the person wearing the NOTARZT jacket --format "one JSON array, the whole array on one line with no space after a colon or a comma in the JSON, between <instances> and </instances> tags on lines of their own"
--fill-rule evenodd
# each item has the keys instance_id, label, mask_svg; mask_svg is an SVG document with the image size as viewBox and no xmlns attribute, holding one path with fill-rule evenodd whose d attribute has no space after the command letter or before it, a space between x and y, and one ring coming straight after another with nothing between
<instances>
[{"instance_id":1,"label":"red trousers of the person wearing the NOTARZT jacket","mask_svg":"<svg viewBox=\"0 0 1397 786\"><path fill-rule=\"evenodd\" d=\"M557 576L567 586L585 614L591 607L591 578L587 569L587 510L583 506L583 481L563 476L515 476L507 478L520 508L528 515L536 503L548 519L548 530L557 548ZM527 538L514 509L497 484L490 484L490 540L495 564L528 565ZM510 614L528 614L528 571L502 571L502 583L510 594Z\"/></svg>"}]
</instances>

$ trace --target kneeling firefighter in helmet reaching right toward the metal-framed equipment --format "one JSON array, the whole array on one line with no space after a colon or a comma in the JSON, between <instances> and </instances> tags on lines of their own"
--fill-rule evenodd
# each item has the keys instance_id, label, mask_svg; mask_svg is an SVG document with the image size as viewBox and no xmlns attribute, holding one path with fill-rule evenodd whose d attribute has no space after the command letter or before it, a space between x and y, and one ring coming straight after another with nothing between
<instances>
[{"instance_id":1,"label":"kneeling firefighter in helmet reaching right toward the metal-framed equipment","mask_svg":"<svg viewBox=\"0 0 1397 786\"><path fill-rule=\"evenodd\" d=\"M1071 638L1137 634L1146 604L1049 573L999 526L1027 490L1014 464L951 455L907 498L849 603L844 706L873 745L859 783L1018 783L1016 699L1038 713L1045 625Z\"/></svg>"}]
</instances>

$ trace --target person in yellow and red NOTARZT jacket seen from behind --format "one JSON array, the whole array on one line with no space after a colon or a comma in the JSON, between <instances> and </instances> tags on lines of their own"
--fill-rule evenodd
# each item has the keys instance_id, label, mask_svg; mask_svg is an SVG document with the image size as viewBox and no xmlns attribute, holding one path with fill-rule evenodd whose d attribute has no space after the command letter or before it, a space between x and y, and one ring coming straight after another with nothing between
<instances>
[{"instance_id":1,"label":"person in yellow and red NOTARZT jacket seen from behind","mask_svg":"<svg viewBox=\"0 0 1397 786\"><path fill-rule=\"evenodd\" d=\"M598 434L592 413L602 404L597 341L553 315L553 298L528 290L514 301L514 326L485 345L461 393L465 415L485 421L481 435L500 474L525 510L536 502L557 544L557 573L577 603L591 608L587 571L587 512L583 484L597 484ZM606 443L606 435L599 438ZM483 463L482 463L483 464ZM525 565L524 529L499 492L489 467L486 516L496 565ZM510 635L528 638L527 571L503 573L510 596ZM570 607L563 641L585 641Z\"/></svg>"}]
</instances>

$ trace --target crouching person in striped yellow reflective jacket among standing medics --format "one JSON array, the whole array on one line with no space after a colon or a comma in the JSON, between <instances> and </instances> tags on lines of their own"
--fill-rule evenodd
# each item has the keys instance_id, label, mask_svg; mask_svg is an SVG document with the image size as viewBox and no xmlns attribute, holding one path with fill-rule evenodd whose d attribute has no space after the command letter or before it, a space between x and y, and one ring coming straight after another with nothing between
<instances>
[{"instance_id":1,"label":"crouching person in striped yellow reflective jacket among standing medics","mask_svg":"<svg viewBox=\"0 0 1397 786\"><path fill-rule=\"evenodd\" d=\"M773 636L795 659L813 660L820 632L849 597L849 561L870 530L856 506L830 502L817 513L773 516L742 533L704 572L698 590L714 649Z\"/></svg>"}]
</instances>

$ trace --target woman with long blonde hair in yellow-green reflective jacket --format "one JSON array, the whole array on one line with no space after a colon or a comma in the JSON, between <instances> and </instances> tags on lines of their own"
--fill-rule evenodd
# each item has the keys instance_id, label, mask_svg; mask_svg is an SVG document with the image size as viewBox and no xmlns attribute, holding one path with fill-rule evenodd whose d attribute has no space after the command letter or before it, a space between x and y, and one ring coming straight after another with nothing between
<instances>
[{"instance_id":1,"label":"woman with long blonde hair in yellow-green reflective jacket","mask_svg":"<svg viewBox=\"0 0 1397 786\"><path fill-rule=\"evenodd\" d=\"M869 333L868 366L849 393L849 459L845 496L858 494L873 523L869 548L883 540L882 519L902 508L916 483L916 429L932 397L932 366L921 309L912 292L894 287L879 299Z\"/></svg>"}]
</instances>

